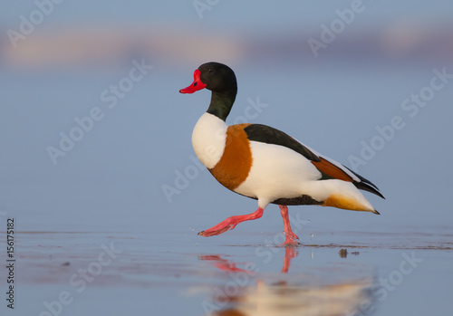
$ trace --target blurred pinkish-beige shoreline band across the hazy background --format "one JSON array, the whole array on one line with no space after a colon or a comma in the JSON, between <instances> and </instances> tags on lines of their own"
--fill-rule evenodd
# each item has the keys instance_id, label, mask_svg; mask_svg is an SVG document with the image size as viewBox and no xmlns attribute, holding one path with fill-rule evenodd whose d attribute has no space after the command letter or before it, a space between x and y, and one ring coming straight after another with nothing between
<instances>
[{"instance_id":1,"label":"blurred pinkish-beige shoreline band across the hazy background","mask_svg":"<svg viewBox=\"0 0 453 316\"><path fill-rule=\"evenodd\" d=\"M415 21L345 30L333 34L332 43L318 57L307 43L321 41L323 29L300 33L288 29L278 37L266 34L208 32L191 27L148 24L119 27L92 25L37 28L16 39L16 47L3 27L0 37L0 66L10 69L109 69L146 58L168 67L217 60L226 63L262 65L275 63L313 65L319 62L371 63L387 66L446 64L453 62L453 24ZM325 36L325 34L324 34Z\"/></svg>"}]
</instances>

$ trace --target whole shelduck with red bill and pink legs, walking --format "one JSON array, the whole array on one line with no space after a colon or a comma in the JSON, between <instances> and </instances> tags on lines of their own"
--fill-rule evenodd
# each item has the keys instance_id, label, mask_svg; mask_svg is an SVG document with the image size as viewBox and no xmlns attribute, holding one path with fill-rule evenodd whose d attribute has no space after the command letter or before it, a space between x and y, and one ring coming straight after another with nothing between
<instances>
[{"instance_id":1,"label":"whole shelduck with red bill and pink legs, walking","mask_svg":"<svg viewBox=\"0 0 453 316\"><path fill-rule=\"evenodd\" d=\"M192 132L195 154L221 185L257 200L258 208L251 214L230 216L198 235L220 235L239 223L258 219L269 204L280 208L283 245L299 244L288 206L332 206L380 214L360 190L385 197L350 168L279 129L251 123L226 125L237 94L236 74L226 64L203 63L195 70L194 81L179 92L203 89L211 91L211 101Z\"/></svg>"}]
</instances>

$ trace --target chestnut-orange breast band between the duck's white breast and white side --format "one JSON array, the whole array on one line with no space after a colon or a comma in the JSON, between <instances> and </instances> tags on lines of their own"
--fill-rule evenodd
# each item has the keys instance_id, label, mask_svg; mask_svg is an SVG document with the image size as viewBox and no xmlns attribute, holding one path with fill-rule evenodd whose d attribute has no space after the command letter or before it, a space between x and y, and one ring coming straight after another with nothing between
<instances>
[{"instance_id":1,"label":"chestnut-orange breast band between the duck's white breast and white side","mask_svg":"<svg viewBox=\"0 0 453 316\"><path fill-rule=\"evenodd\" d=\"M209 169L224 187L230 190L239 187L248 177L252 167L250 141L244 129L250 124L237 124L226 129L226 144L222 158Z\"/></svg>"}]
</instances>

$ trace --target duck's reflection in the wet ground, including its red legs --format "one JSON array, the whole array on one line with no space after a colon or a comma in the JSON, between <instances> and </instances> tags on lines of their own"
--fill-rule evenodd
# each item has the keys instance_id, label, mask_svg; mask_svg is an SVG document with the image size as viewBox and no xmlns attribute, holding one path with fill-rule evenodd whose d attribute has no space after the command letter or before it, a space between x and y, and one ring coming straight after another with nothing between
<instances>
[{"instance_id":1,"label":"duck's reflection in the wet ground, including its red legs","mask_svg":"<svg viewBox=\"0 0 453 316\"><path fill-rule=\"evenodd\" d=\"M333 316L361 314L361 309L366 306L366 313L370 313L373 278L369 271L346 264L329 269L307 268L304 273L288 273L291 260L297 255L297 247L285 247L282 273L278 275L240 269L232 260L223 259L218 254L199 256L200 260L212 262L223 272L232 273L233 280L235 274L252 275L246 284L238 283L235 292L214 291L214 297L205 311L215 316ZM238 265L241 266L240 263ZM231 284L228 286L233 288Z\"/></svg>"}]
</instances>

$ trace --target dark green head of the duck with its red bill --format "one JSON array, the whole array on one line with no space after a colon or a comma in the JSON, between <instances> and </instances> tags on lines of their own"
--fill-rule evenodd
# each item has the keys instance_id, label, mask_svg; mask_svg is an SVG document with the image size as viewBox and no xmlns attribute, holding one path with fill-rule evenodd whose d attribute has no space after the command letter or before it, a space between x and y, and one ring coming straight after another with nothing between
<instances>
[{"instance_id":1,"label":"dark green head of the duck with its red bill","mask_svg":"<svg viewBox=\"0 0 453 316\"><path fill-rule=\"evenodd\" d=\"M203 63L194 72L194 81L181 93L193 93L206 88L220 95L234 95L236 97L237 82L235 72L219 62Z\"/></svg>"}]
</instances>

